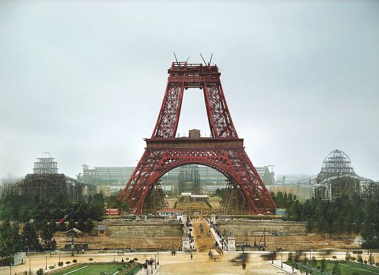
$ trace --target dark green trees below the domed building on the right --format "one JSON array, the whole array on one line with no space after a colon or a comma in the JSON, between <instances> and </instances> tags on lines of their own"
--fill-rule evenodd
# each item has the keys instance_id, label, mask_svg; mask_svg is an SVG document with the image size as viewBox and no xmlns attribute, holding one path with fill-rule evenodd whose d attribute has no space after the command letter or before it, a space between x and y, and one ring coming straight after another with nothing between
<instances>
[{"instance_id":1,"label":"dark green trees below the domed building on the right","mask_svg":"<svg viewBox=\"0 0 379 275\"><path fill-rule=\"evenodd\" d=\"M291 194L272 193L278 208L287 208L289 221L307 223L308 232L354 233L364 239L363 248L379 248L379 196L361 199L354 194L335 201L312 198L304 203Z\"/></svg>"}]
</instances>

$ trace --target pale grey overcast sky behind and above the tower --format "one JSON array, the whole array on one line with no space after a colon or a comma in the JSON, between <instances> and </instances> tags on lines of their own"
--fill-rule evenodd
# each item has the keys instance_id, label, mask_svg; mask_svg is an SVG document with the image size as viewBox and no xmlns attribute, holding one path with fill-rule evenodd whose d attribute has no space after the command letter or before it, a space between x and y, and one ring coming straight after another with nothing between
<instances>
[{"instance_id":1,"label":"pale grey overcast sky behind and above the tower","mask_svg":"<svg viewBox=\"0 0 379 275\"><path fill-rule=\"evenodd\" d=\"M174 59L210 54L256 166L379 179L379 1L0 1L0 177L134 166ZM178 132L209 135L201 90Z\"/></svg>"}]
</instances>

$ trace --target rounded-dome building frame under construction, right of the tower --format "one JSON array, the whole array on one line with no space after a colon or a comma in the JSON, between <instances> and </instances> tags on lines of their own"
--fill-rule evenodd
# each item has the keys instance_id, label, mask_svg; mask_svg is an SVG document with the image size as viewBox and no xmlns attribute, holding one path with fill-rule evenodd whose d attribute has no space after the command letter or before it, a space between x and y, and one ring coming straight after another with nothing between
<instances>
[{"instance_id":1,"label":"rounded-dome building frame under construction, right of the tower","mask_svg":"<svg viewBox=\"0 0 379 275\"><path fill-rule=\"evenodd\" d=\"M369 198L379 194L379 183L358 176L351 166L349 156L340 150L330 152L322 162L320 173L298 185L298 198L322 198L334 201L342 196Z\"/></svg>"}]
</instances>

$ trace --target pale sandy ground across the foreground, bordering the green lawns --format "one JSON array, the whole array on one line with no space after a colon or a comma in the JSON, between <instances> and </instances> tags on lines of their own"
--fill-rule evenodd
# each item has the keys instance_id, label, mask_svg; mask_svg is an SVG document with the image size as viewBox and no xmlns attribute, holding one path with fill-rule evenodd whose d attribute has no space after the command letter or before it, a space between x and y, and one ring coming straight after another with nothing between
<instances>
[{"instance_id":1,"label":"pale sandy ground across the foreground, bordering the green lawns","mask_svg":"<svg viewBox=\"0 0 379 275\"><path fill-rule=\"evenodd\" d=\"M113 253L101 253L94 254L85 252L85 254L75 255L74 257L70 254L60 255L58 253L52 254L39 254L37 256L27 257L23 265L17 265L12 267L12 275L20 275L24 271L29 271L29 264L32 274L36 274L37 270L42 268L45 269L46 261L48 267L50 265L57 265L58 261L70 261L76 259L78 263L88 263L89 258L93 258L93 262L112 262L121 261L121 259L126 260L126 258L138 258L142 263L146 258L155 259L158 255L161 267L158 269L156 274L158 275L184 275L184 274L209 274L209 275L224 275L224 274L263 274L263 275L274 275L280 274L280 269L272 267L269 265L269 261L266 261L262 254L263 252L249 254L249 261L247 263L246 270L242 270L240 265L232 265L230 260L238 256L238 253L224 253L219 261L210 261L207 252L194 253L191 260L189 253L177 253L176 256L172 256L170 252L151 252L151 253L125 253L125 254L113 254ZM331 260L332 256L337 256L337 259L345 259L346 252L334 252L334 254L321 255L312 252L312 255L316 255L316 258L326 257ZM283 261L287 259L288 252L283 252ZM375 261L379 261L379 254L373 254ZM46 258L46 256L48 256ZM367 260L367 251L364 251L362 255L364 260ZM277 257L280 260L280 257ZM57 267L56 267L57 268ZM10 274L10 267L0 267L0 275Z\"/></svg>"}]
</instances>

